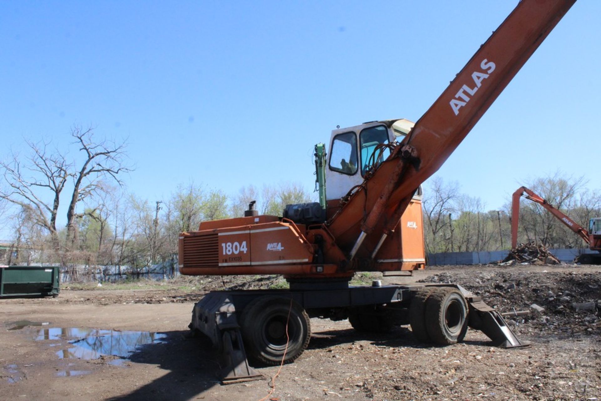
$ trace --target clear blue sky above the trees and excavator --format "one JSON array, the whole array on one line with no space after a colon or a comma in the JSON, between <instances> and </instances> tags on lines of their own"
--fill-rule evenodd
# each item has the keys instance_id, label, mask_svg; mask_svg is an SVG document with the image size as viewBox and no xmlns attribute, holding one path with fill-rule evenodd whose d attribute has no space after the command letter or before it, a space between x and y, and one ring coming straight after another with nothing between
<instances>
[{"instance_id":1,"label":"clear blue sky above the trees and excavator","mask_svg":"<svg viewBox=\"0 0 601 401\"><path fill-rule=\"evenodd\" d=\"M0 3L0 135L127 139L129 192L313 189L337 125L416 121L517 1ZM487 209L557 170L601 188L601 2L572 7L438 175Z\"/></svg>"}]
</instances>

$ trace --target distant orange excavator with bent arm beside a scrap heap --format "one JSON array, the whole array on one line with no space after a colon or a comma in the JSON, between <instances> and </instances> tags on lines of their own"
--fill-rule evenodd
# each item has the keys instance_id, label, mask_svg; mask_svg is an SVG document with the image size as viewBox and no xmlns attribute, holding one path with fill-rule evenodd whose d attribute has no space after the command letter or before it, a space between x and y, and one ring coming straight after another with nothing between
<instances>
[{"instance_id":1,"label":"distant orange excavator with bent arm beside a scrap heap","mask_svg":"<svg viewBox=\"0 0 601 401\"><path fill-rule=\"evenodd\" d=\"M525 194L525 195L524 195ZM591 251L601 251L601 218L596 217L588 221L588 231L577 222L562 213L559 209L555 208L551 203L543 199L542 197L535 194L531 189L525 186L520 186L513 192L511 197L511 248L514 249L517 246L517 225L519 224L520 217L520 198L524 197L535 203L540 204L554 215L559 221L563 222L567 228L578 234L579 237L588 244ZM601 254L581 254L576 257L577 263L584 264L601 264Z\"/></svg>"}]
</instances>

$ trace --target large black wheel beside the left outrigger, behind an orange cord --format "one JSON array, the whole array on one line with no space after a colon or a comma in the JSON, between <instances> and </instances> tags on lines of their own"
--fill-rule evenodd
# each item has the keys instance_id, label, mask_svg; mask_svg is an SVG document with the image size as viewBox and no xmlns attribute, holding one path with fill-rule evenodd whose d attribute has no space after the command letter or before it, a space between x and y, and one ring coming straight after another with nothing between
<instances>
[{"instance_id":1,"label":"large black wheel beside the left outrigger, behind an orange cord","mask_svg":"<svg viewBox=\"0 0 601 401\"><path fill-rule=\"evenodd\" d=\"M296 360L311 339L307 312L289 298L255 299L242 311L240 326L249 357L267 365Z\"/></svg>"}]
</instances>

